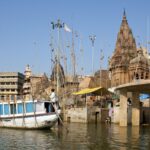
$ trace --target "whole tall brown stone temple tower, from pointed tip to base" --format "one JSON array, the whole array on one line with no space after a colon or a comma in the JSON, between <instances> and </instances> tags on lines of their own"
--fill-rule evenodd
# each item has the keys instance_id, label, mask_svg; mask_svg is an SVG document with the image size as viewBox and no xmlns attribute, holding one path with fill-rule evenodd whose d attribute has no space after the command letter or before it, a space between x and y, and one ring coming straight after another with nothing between
<instances>
[{"instance_id":1,"label":"whole tall brown stone temple tower, from pointed tip to base","mask_svg":"<svg viewBox=\"0 0 150 150\"><path fill-rule=\"evenodd\" d=\"M137 56L135 39L128 25L124 11L116 47L110 59L111 86L115 87L129 82L130 61Z\"/></svg>"}]
</instances>

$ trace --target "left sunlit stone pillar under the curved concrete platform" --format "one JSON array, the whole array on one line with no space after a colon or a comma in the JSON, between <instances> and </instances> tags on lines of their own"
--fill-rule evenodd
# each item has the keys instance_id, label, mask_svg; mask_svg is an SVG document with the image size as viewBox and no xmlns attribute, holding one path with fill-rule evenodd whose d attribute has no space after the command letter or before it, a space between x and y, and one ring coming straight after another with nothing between
<instances>
[{"instance_id":1,"label":"left sunlit stone pillar under the curved concrete platform","mask_svg":"<svg viewBox=\"0 0 150 150\"><path fill-rule=\"evenodd\" d=\"M127 91L120 90L120 126L127 126Z\"/></svg>"}]
</instances>

